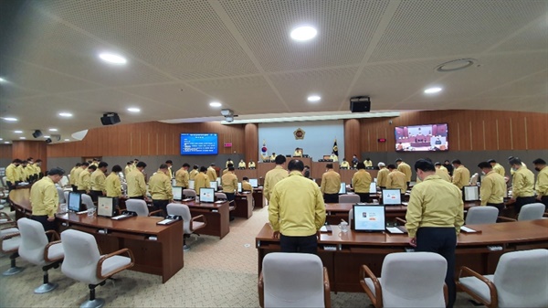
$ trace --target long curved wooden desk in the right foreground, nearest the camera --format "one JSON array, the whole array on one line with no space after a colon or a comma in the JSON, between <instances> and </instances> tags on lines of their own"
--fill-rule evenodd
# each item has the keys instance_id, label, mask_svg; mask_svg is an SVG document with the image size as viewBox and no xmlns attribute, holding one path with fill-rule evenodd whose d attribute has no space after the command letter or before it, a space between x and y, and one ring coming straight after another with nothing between
<instances>
[{"instance_id":1,"label":"long curved wooden desk in the right foreground, nearest the camera","mask_svg":"<svg viewBox=\"0 0 548 308\"><path fill-rule=\"evenodd\" d=\"M455 272L465 265L480 274L492 274L502 253L514 250L548 248L548 219L507 222L491 225L474 225L481 233L461 233L458 236ZM360 266L366 264L380 277L385 256L411 248L406 234L364 233L350 230L342 233L332 226L332 233L321 233L318 256L329 273L333 292L363 292L360 286ZM498 245L500 251L487 247ZM336 250L325 250L326 246ZM279 251L279 239L272 239L272 229L265 224L256 238L258 272L262 260L269 252Z\"/></svg>"}]
</instances>

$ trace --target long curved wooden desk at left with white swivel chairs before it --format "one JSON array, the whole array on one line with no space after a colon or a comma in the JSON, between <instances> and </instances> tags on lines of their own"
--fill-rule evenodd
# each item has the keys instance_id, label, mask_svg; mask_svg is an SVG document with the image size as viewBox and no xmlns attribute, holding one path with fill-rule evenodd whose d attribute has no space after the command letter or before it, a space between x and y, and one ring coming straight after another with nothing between
<instances>
[{"instance_id":1,"label":"long curved wooden desk at left with white swivel chairs before it","mask_svg":"<svg viewBox=\"0 0 548 308\"><path fill-rule=\"evenodd\" d=\"M16 219L32 215L29 190L12 190L9 194L16 208ZM74 228L92 234L102 253L122 248L132 250L135 257L132 271L160 275L165 282L184 266L183 223L178 221L169 226L158 226L156 222L160 219L135 217L112 220L68 213L58 214L56 223L59 232Z\"/></svg>"}]
</instances>

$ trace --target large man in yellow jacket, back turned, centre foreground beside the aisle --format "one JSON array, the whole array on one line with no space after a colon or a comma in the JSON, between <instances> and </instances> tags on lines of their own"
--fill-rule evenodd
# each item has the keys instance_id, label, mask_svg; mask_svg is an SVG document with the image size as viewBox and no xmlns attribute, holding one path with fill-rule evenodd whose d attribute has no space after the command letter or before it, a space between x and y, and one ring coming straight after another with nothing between
<instances>
[{"instance_id":1,"label":"large man in yellow jacket, back turned, centre foreground beside the aisle","mask_svg":"<svg viewBox=\"0 0 548 308\"><path fill-rule=\"evenodd\" d=\"M304 178L302 161L289 164L290 175L279 180L271 192L269 222L279 238L281 252L313 253L318 250L317 232L325 222L320 188Z\"/></svg>"}]
</instances>

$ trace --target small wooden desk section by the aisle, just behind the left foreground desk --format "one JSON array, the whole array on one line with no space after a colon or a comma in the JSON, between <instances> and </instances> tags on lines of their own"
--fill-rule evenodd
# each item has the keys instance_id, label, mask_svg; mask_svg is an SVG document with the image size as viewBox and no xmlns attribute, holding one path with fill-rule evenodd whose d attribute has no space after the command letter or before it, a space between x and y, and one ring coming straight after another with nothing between
<instances>
[{"instance_id":1,"label":"small wooden desk section by the aisle, just behind the left foreground desk","mask_svg":"<svg viewBox=\"0 0 548 308\"><path fill-rule=\"evenodd\" d=\"M204 215L207 224L195 233L212 235L223 239L230 232L228 202L224 203L195 203L195 201L181 202L188 206L190 214L195 217Z\"/></svg>"}]
</instances>

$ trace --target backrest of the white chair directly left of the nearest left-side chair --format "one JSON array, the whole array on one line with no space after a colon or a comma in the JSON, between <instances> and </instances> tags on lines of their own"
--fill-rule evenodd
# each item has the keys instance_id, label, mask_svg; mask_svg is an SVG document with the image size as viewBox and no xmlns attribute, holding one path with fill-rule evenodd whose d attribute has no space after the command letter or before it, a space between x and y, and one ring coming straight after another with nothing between
<instances>
[{"instance_id":1,"label":"backrest of the white chair directly left of the nearest left-side chair","mask_svg":"<svg viewBox=\"0 0 548 308\"><path fill-rule=\"evenodd\" d=\"M36 220L21 218L17 220L17 227L21 234L19 256L36 265L45 264L44 249L48 241L42 224Z\"/></svg>"}]
</instances>

